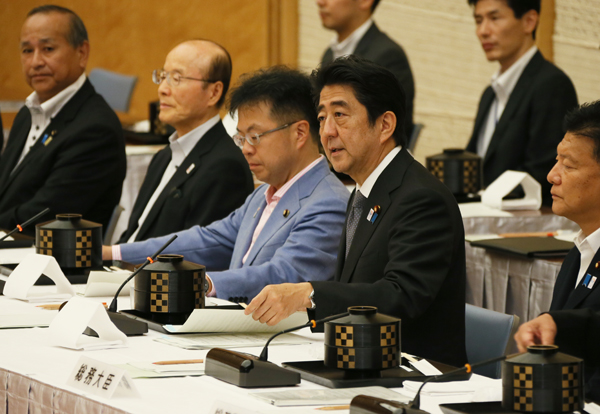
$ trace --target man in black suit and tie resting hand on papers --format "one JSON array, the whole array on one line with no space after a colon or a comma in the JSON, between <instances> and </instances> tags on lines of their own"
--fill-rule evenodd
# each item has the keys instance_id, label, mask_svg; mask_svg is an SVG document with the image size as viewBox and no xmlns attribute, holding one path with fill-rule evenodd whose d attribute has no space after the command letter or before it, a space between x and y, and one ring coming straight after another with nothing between
<instances>
[{"instance_id":1,"label":"man in black suit and tie resting hand on papers","mask_svg":"<svg viewBox=\"0 0 600 414\"><path fill-rule=\"evenodd\" d=\"M273 325L300 309L320 319L376 306L402 319L402 350L466 362L464 229L447 187L404 148L394 75L348 56L313 72L321 142L356 183L333 282L267 286L246 313Z\"/></svg>"}]
</instances>

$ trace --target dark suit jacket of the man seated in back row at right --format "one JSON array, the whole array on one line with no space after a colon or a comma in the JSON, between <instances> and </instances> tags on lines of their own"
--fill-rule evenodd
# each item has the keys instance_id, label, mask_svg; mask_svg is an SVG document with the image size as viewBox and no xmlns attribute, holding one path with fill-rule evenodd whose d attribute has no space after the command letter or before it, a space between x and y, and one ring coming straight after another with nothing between
<instances>
[{"instance_id":1,"label":"dark suit jacket of the man seated in back row at right","mask_svg":"<svg viewBox=\"0 0 600 414\"><path fill-rule=\"evenodd\" d=\"M483 93L467 151L477 153L477 140L495 98ZM546 176L556 162L565 114L577 106L569 77L538 51L523 70L498 120L483 160L483 184L490 185L506 170L526 171L542 185L544 204L552 204Z\"/></svg>"}]
</instances>

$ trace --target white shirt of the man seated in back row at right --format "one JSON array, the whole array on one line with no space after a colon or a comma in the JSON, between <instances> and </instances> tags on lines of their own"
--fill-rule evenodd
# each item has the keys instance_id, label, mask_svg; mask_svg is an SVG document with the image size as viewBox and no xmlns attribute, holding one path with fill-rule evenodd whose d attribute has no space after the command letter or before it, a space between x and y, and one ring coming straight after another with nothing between
<instances>
[{"instance_id":1,"label":"white shirt of the man seated in back row at right","mask_svg":"<svg viewBox=\"0 0 600 414\"><path fill-rule=\"evenodd\" d=\"M496 124L502 117L504 108L508 103L510 94L515 89L519 78L523 74L525 67L529 64L529 61L533 58L533 55L538 51L537 46L531 47L527 52L523 54L513 65L508 68L504 73L500 73L500 70L492 76L492 89L496 93L494 102L490 106L490 111L487 114L487 118L483 124L483 128L479 131L479 138L477 141L477 155L481 158L485 158L485 154L490 146L492 135L496 130Z\"/></svg>"}]
</instances>

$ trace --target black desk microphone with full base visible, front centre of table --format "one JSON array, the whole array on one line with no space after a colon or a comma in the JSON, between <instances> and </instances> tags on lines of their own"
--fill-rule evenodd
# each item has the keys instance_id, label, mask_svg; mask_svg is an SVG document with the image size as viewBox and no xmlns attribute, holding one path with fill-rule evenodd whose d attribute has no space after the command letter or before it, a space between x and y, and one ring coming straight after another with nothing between
<instances>
[{"instance_id":1,"label":"black desk microphone with full base visible, front centre of table","mask_svg":"<svg viewBox=\"0 0 600 414\"><path fill-rule=\"evenodd\" d=\"M300 373L282 368L267 361L267 349L269 343L281 334L296 331L308 326L314 328L318 324L342 318L348 314L349 312L344 312L339 315L319 319L318 321L311 320L303 325L278 332L269 338L260 357L228 349L213 348L206 354L204 372L206 375L210 375L211 377L242 388L286 387L297 385L300 383Z\"/></svg>"}]
</instances>

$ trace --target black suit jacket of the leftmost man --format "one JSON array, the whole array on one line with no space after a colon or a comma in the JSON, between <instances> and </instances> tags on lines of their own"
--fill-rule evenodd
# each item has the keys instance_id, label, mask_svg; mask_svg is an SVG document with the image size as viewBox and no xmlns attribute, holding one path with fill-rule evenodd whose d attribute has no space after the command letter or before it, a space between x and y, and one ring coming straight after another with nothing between
<instances>
[{"instance_id":1,"label":"black suit jacket of the leftmost man","mask_svg":"<svg viewBox=\"0 0 600 414\"><path fill-rule=\"evenodd\" d=\"M65 104L13 171L31 128L23 107L0 158L0 227L11 229L49 207L108 224L125 179L125 141L121 123L89 80ZM42 137L49 137L44 144ZM29 226L27 234L35 234Z\"/></svg>"}]
</instances>

